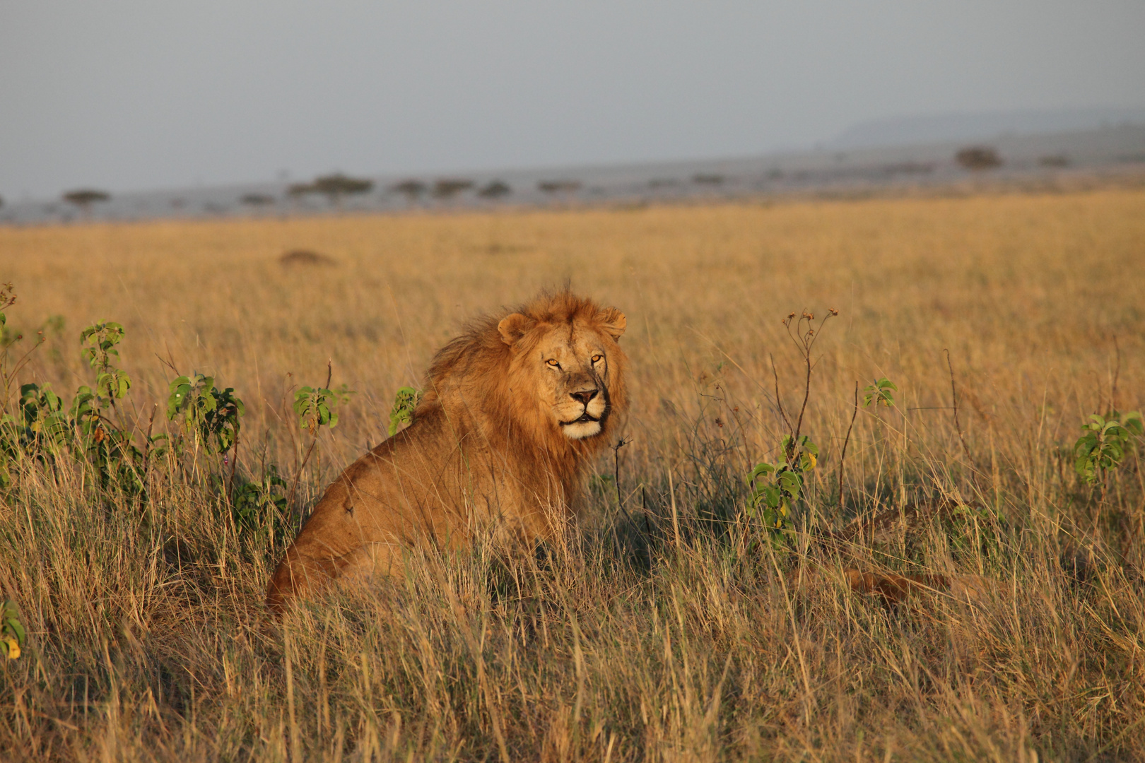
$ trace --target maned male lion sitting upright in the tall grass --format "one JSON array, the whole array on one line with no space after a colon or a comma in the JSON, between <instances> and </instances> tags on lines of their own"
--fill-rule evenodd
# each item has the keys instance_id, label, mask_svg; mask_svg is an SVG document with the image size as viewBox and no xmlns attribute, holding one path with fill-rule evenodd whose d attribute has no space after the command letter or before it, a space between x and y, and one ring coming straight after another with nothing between
<instances>
[{"instance_id":1,"label":"maned male lion sitting upright in the tall grass","mask_svg":"<svg viewBox=\"0 0 1145 763\"><path fill-rule=\"evenodd\" d=\"M414 545L554 537L626 405L624 326L619 310L567 291L469 324L429 365L413 423L326 488L267 606L338 578L401 574Z\"/></svg>"}]
</instances>

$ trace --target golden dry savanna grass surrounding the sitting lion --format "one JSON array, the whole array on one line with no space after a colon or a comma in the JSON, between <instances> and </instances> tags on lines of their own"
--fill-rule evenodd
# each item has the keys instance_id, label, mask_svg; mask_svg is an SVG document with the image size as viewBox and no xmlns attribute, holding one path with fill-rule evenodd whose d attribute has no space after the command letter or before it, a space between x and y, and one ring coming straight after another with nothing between
<instances>
[{"instance_id":1,"label":"golden dry savanna grass surrounding the sitting lion","mask_svg":"<svg viewBox=\"0 0 1145 763\"><path fill-rule=\"evenodd\" d=\"M283 545L395 391L466 318L566 279L627 315L633 396L567 542L412 555L400 585L270 620ZM0 228L0 280L9 372L44 332L9 414L29 382L66 412L103 320L131 377L106 426L140 452L179 435L179 375L245 407L237 447L153 439L132 479L76 430L11 451L0 587L27 638L0 758L1145 760L1140 442L1096 484L1073 450L1090 414L1145 407L1140 190ZM820 453L777 534L743 477L802 407L781 320L805 310ZM294 392L327 373L356 394L306 459ZM893 405L864 405L883 377ZM992 583L891 605L846 567Z\"/></svg>"}]
</instances>

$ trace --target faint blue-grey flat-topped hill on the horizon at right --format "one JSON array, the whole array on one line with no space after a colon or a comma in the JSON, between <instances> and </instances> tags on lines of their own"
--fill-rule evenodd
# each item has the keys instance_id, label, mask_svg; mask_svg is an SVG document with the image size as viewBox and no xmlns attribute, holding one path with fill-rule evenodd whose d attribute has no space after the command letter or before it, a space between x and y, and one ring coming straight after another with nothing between
<instances>
[{"instance_id":1,"label":"faint blue-grey flat-topped hill on the horizon at right","mask_svg":"<svg viewBox=\"0 0 1145 763\"><path fill-rule=\"evenodd\" d=\"M867 149L986 141L1001 135L1073 133L1122 125L1145 125L1145 106L988 111L875 119L853 125L827 148Z\"/></svg>"}]
</instances>

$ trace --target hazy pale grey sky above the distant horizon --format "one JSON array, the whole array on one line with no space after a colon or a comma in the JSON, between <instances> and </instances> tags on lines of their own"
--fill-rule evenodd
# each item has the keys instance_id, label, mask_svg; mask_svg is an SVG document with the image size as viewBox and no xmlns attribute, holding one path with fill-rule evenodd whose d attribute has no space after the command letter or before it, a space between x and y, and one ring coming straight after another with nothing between
<instances>
[{"instance_id":1,"label":"hazy pale grey sky above the distant horizon","mask_svg":"<svg viewBox=\"0 0 1145 763\"><path fill-rule=\"evenodd\" d=\"M1145 2L0 0L0 194L760 153L1145 104Z\"/></svg>"}]
</instances>

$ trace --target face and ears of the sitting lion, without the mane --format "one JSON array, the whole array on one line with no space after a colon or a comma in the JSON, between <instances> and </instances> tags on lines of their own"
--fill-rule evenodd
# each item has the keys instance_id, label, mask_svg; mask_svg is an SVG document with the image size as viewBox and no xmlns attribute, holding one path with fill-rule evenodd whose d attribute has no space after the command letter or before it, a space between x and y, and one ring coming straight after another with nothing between
<instances>
[{"instance_id":1,"label":"face and ears of the sitting lion, without the mane","mask_svg":"<svg viewBox=\"0 0 1145 763\"><path fill-rule=\"evenodd\" d=\"M611 411L609 382L618 373L616 341L624 325L624 315L610 309L568 324L537 324L514 313L498 326L514 349L514 371L529 380L542 416L569 439L603 431Z\"/></svg>"}]
</instances>

